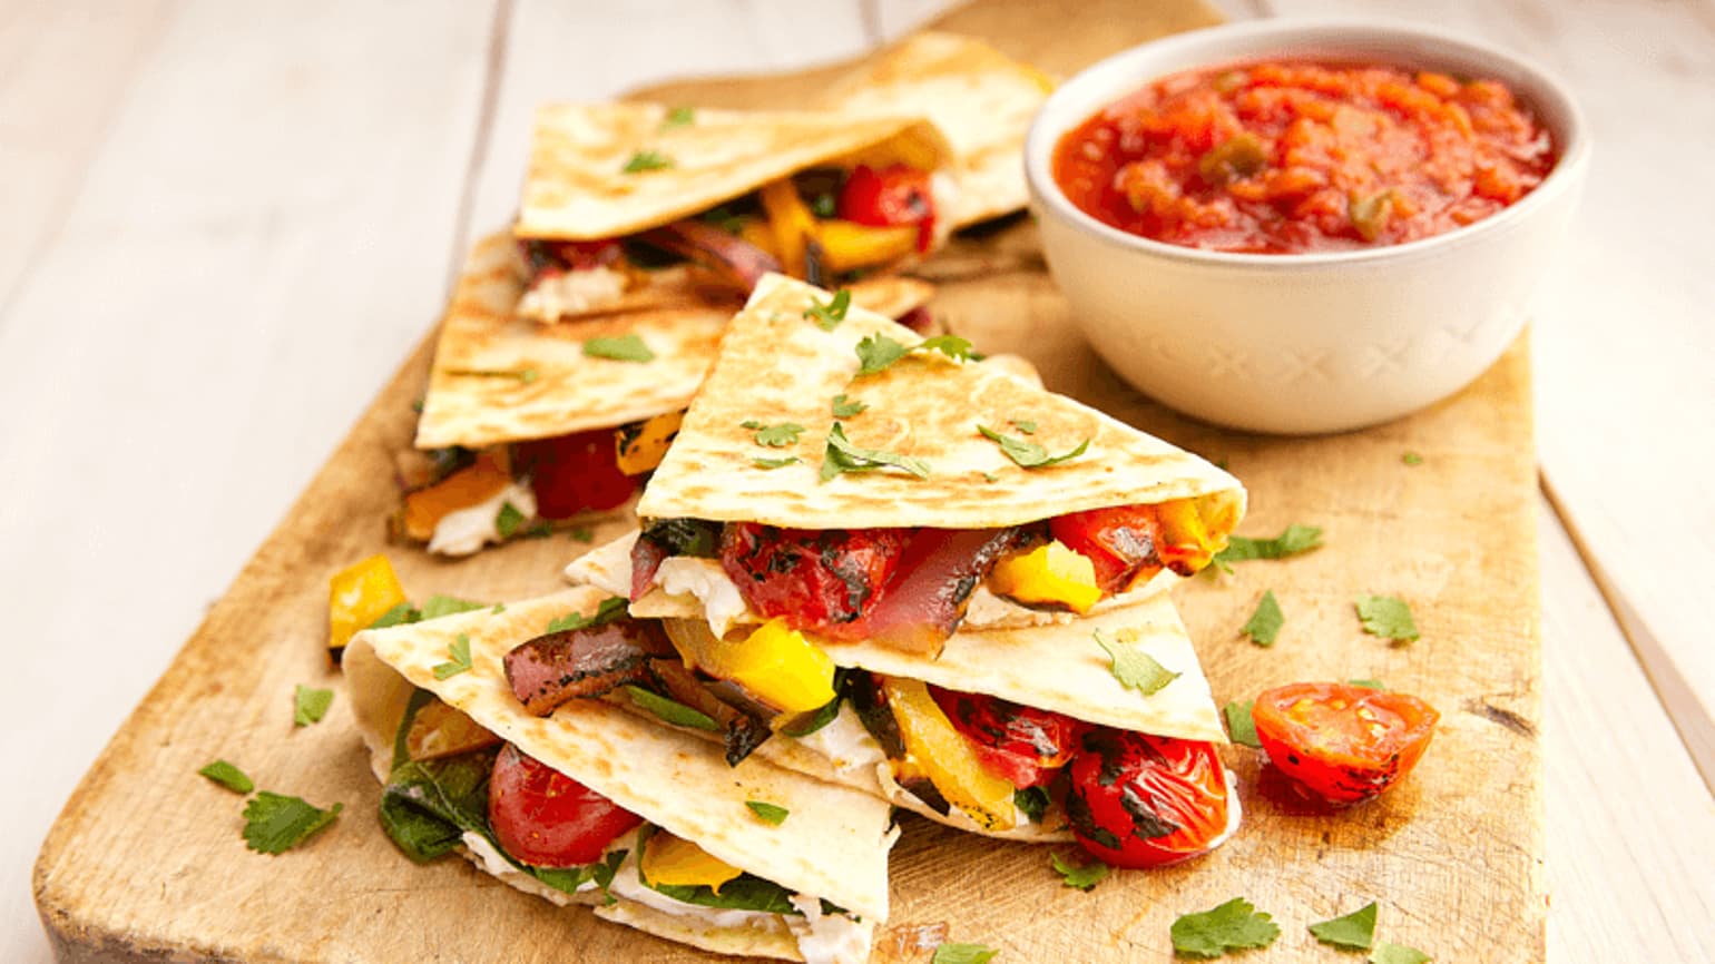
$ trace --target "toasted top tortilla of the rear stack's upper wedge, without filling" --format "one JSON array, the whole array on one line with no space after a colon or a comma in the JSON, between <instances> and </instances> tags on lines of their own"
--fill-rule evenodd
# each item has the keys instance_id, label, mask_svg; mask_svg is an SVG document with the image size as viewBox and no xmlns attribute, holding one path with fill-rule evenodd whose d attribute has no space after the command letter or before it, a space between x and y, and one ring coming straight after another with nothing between
<instances>
[{"instance_id":1,"label":"toasted top tortilla of the rear stack's upper wedge, without filling","mask_svg":"<svg viewBox=\"0 0 1715 964\"><path fill-rule=\"evenodd\" d=\"M537 108L521 238L616 238L676 221L818 165L943 168L947 139L916 113L691 111L655 103ZM683 115L681 115L683 117ZM626 172L633 158L669 166Z\"/></svg>"}]
</instances>

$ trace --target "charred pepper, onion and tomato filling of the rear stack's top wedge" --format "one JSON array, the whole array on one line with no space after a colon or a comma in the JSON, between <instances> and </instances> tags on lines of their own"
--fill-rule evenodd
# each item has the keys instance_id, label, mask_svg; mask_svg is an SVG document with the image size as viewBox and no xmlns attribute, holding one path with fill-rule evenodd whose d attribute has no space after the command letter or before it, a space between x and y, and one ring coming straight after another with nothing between
<instances>
[{"instance_id":1,"label":"charred pepper, onion and tomato filling of the rear stack's top wedge","mask_svg":"<svg viewBox=\"0 0 1715 964\"><path fill-rule=\"evenodd\" d=\"M528 286L587 273L611 281L609 297L617 297L648 271L676 264L703 285L743 293L770 271L837 286L930 249L936 226L930 177L907 165L815 168L623 238L521 240Z\"/></svg>"}]
</instances>

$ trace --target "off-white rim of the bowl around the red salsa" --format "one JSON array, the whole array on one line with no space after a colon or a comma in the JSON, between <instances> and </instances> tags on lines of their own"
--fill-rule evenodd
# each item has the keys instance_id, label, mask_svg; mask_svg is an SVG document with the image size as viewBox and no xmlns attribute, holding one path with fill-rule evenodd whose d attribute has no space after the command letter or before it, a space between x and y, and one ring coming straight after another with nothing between
<instances>
[{"instance_id":1,"label":"off-white rim of the bowl around the red salsa","mask_svg":"<svg viewBox=\"0 0 1715 964\"><path fill-rule=\"evenodd\" d=\"M1269 51L1252 48L1252 45L1264 41L1278 41L1279 50ZM1358 250L1262 254L1185 247L1122 232L1084 213L1077 204L1072 204L1050 170L1053 151L1067 130L1087 120L1106 103L1111 103L1113 99L1125 96L1130 89L1142 87L1159 77L1183 70L1199 70L1223 62L1291 57L1295 46L1303 48L1312 45L1321 48L1317 51L1321 55L1338 51L1339 48L1351 48L1355 58L1374 58L1375 53L1372 48L1375 45L1387 43L1434 45L1437 48L1447 48L1449 55L1463 55L1468 60L1492 60L1502 65L1497 74L1511 74L1514 77L1513 81L1507 81L1507 86L1514 87L1514 93L1519 96L1525 94L1516 87L1519 86L1519 81L1525 81L1525 84L1531 87L1528 101L1535 105L1538 108L1538 115L1542 115L1538 120L1549 127L1550 134L1556 136L1556 142L1561 146L1561 156L1556 160L1554 168L1549 170L1549 175L1542 180L1542 184L1519 201L1480 221L1425 238ZM1187 65L1151 69L1152 62L1199 51L1204 53L1204 57L1199 57L1202 62L1200 67ZM1434 62L1435 57L1430 55L1425 60ZM1068 101L1082 101L1084 96L1087 96L1086 91L1089 87L1106 87L1120 77L1130 77L1130 86L1125 87L1125 84L1122 84L1125 91L1111 94L1098 106L1087 110L1070 110L1065 106ZM1060 113L1068 115L1070 120L1062 118L1056 122L1056 115ZM1557 125L1556 120L1559 120ZM1226 268L1267 268L1276 271L1413 259L1417 256L1434 254L1439 249L1480 240L1495 232L1504 232L1509 225L1531 216L1533 211L1547 208L1556 196L1573 190L1576 182L1581 178L1588 160L1590 136L1583 111L1580 110L1578 101L1571 96L1566 82L1547 69L1516 53L1458 33L1403 21L1377 21L1362 17L1243 21L1171 34L1122 50L1079 70L1060 84L1038 110L1024 142L1024 177L1031 190L1032 206L1046 209L1048 214L1058 216L1087 235L1094 235L1096 240L1176 261Z\"/></svg>"}]
</instances>

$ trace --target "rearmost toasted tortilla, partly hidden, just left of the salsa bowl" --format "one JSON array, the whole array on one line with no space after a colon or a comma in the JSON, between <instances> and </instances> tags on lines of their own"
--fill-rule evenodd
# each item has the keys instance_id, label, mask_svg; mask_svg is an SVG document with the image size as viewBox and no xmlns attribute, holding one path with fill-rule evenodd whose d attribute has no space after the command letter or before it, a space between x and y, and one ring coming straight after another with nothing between
<instances>
[{"instance_id":1,"label":"rearmost toasted tortilla, partly hidden, just left of the salsa bowl","mask_svg":"<svg viewBox=\"0 0 1715 964\"><path fill-rule=\"evenodd\" d=\"M866 60L815 106L933 120L954 149L954 226L962 228L1029 201L1024 136L1053 87L1041 70L979 39L924 31Z\"/></svg>"}]
</instances>

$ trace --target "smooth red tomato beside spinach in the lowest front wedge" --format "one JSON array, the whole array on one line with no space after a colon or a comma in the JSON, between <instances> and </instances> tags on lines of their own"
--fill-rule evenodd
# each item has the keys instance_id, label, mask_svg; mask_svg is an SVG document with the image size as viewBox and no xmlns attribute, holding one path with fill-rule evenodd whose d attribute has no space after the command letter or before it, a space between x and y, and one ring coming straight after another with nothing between
<instances>
[{"instance_id":1,"label":"smooth red tomato beside spinach in the lowest front wedge","mask_svg":"<svg viewBox=\"0 0 1715 964\"><path fill-rule=\"evenodd\" d=\"M489 777L489 823L530 866L583 866L643 818L508 743Z\"/></svg>"}]
</instances>

